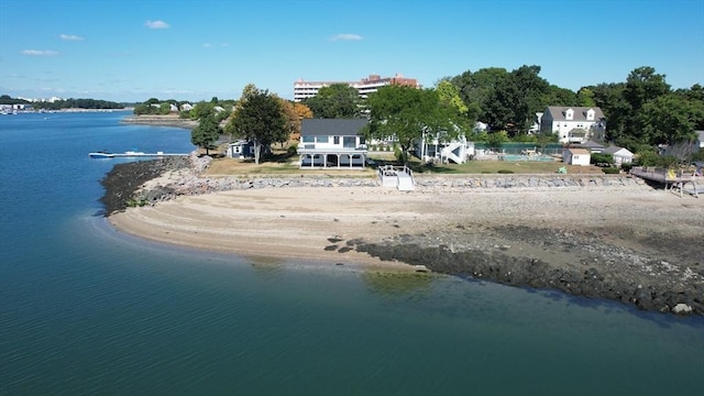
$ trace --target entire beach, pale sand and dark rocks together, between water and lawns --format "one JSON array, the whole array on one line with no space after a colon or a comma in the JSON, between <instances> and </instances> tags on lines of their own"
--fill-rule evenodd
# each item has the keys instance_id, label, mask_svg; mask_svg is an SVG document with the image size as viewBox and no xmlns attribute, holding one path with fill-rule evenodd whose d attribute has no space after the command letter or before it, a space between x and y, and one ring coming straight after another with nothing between
<instances>
[{"instance_id":1,"label":"entire beach, pale sand and dark rocks together, between water and lawns","mask_svg":"<svg viewBox=\"0 0 704 396\"><path fill-rule=\"evenodd\" d=\"M163 177L148 190L184 183L183 175ZM108 219L147 240L240 256L430 271L704 315L702 209L702 200L644 183L551 189L430 184L413 193L250 185L216 194L172 190L167 199Z\"/></svg>"}]
</instances>

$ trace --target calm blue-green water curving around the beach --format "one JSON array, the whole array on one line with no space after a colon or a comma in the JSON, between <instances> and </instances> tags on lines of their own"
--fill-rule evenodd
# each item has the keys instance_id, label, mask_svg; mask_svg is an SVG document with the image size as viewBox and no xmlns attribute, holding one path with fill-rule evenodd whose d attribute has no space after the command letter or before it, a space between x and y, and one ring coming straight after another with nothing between
<instances>
[{"instance_id":1,"label":"calm blue-green water curving around the beach","mask_svg":"<svg viewBox=\"0 0 704 396\"><path fill-rule=\"evenodd\" d=\"M704 320L166 248L100 217L124 113L0 117L0 395L698 395Z\"/></svg>"}]
</instances>

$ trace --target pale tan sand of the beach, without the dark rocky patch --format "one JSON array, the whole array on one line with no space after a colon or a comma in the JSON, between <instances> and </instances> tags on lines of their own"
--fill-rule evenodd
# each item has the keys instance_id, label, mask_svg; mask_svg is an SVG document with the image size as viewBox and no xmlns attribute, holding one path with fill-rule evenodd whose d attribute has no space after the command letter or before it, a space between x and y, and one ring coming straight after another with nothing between
<instances>
[{"instance_id":1,"label":"pale tan sand of the beach, without the dark rocky patch","mask_svg":"<svg viewBox=\"0 0 704 396\"><path fill-rule=\"evenodd\" d=\"M403 267L353 249L336 249L351 240L383 243L398 235L442 233L447 238L449 231L457 231L473 239L474 248L521 244L496 231L509 227L573 234L575 242L592 235L603 243L694 267L704 262L704 200L680 198L647 185L413 193L381 187L261 188L178 197L128 209L110 221L124 232L166 243L331 264ZM554 255L536 243L526 241L522 252L504 251L541 260Z\"/></svg>"}]
</instances>

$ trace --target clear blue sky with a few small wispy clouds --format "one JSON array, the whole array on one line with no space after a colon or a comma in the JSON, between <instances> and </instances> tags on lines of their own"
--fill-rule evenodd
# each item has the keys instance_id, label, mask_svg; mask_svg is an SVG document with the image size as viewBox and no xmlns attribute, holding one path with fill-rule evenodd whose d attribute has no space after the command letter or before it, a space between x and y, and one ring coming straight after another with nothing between
<instances>
[{"instance_id":1,"label":"clear blue sky with a few small wispy clouds","mask_svg":"<svg viewBox=\"0 0 704 396\"><path fill-rule=\"evenodd\" d=\"M293 98L305 80L541 66L578 90L639 66L704 85L703 0L0 0L0 94Z\"/></svg>"}]
</instances>

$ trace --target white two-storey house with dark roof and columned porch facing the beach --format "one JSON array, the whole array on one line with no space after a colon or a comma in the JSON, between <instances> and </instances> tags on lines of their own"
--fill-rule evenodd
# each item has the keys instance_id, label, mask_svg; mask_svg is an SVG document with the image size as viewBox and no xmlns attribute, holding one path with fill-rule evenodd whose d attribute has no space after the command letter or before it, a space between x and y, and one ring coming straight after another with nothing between
<instances>
[{"instance_id":1,"label":"white two-storey house with dark roof and columned porch facing the beach","mask_svg":"<svg viewBox=\"0 0 704 396\"><path fill-rule=\"evenodd\" d=\"M364 168L365 119L304 119L298 144L299 166L310 169Z\"/></svg>"}]
</instances>

